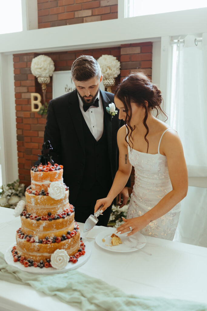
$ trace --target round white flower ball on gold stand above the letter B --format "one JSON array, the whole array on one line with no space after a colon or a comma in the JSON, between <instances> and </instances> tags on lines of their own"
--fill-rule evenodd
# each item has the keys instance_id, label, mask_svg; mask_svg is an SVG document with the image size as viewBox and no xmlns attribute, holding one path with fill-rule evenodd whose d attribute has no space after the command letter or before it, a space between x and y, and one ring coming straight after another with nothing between
<instances>
[{"instance_id":1,"label":"round white flower ball on gold stand above the letter B","mask_svg":"<svg viewBox=\"0 0 207 311\"><path fill-rule=\"evenodd\" d=\"M52 77L54 70L54 62L49 56L39 55L33 58L31 72L35 77Z\"/></svg>"}]
</instances>

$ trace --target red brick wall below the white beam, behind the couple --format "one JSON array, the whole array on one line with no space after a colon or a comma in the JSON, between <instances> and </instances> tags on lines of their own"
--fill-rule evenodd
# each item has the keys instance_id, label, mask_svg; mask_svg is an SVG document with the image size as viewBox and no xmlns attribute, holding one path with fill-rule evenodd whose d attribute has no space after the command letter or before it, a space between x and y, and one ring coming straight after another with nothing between
<instances>
[{"instance_id":1,"label":"red brick wall below the white beam, behind the couple","mask_svg":"<svg viewBox=\"0 0 207 311\"><path fill-rule=\"evenodd\" d=\"M124 44L120 47L78 50L70 52L46 53L55 64L55 71L70 70L75 58L80 55L92 55L99 58L103 54L115 56L121 62L121 73L116 78L116 86L131 72L142 70L151 77L152 66L152 43ZM43 144L46 116L31 112L30 93L39 93L42 96L41 85L37 78L31 74L30 66L36 53L25 53L13 55L14 80L15 80L15 102L16 102L16 131L18 148L19 179L26 186L30 184L30 167L41 153ZM47 84L46 101L52 99L52 78ZM132 171L132 186L134 183L134 171ZM129 189L131 194L132 188Z\"/></svg>"}]
</instances>

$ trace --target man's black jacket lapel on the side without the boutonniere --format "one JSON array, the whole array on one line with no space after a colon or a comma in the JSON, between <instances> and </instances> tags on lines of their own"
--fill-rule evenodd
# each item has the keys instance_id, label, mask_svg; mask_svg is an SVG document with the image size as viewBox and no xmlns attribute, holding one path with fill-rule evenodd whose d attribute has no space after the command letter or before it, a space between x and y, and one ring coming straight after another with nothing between
<instances>
[{"instance_id":1,"label":"man's black jacket lapel on the side without the boutonniere","mask_svg":"<svg viewBox=\"0 0 207 311\"><path fill-rule=\"evenodd\" d=\"M76 90L70 93L68 109L72 117L74 128L77 133L80 145L85 154L85 142L84 142L84 137L83 137L82 117L81 117L81 111L80 111L80 106L79 106L78 94ZM69 133L69 134L73 135L73 133Z\"/></svg>"}]
</instances>

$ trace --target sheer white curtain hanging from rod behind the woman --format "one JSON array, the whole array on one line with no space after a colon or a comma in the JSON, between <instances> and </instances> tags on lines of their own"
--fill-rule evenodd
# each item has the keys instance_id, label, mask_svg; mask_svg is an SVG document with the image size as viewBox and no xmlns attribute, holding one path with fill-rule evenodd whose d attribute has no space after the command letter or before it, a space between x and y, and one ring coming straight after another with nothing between
<instances>
[{"instance_id":1,"label":"sheer white curtain hanging from rod behind the woman","mask_svg":"<svg viewBox=\"0 0 207 311\"><path fill-rule=\"evenodd\" d=\"M207 177L207 34L195 44L187 35L173 48L172 96L167 103L169 124L184 149L188 176ZM174 240L207 247L207 189L189 187Z\"/></svg>"}]
</instances>

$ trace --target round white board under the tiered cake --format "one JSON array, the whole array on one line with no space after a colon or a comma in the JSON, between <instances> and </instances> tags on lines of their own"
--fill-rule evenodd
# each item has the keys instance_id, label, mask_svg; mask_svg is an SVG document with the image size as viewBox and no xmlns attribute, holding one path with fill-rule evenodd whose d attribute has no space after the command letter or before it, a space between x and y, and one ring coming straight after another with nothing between
<instances>
[{"instance_id":1,"label":"round white board under the tiered cake","mask_svg":"<svg viewBox=\"0 0 207 311\"><path fill-rule=\"evenodd\" d=\"M4 258L6 260L6 262L9 265L15 266L17 268L19 268L20 270L29 272L29 273L34 273L34 274L54 274L54 273L64 273L66 271L69 270L75 270L79 267L81 267L85 262L88 261L89 257L91 256L91 246L90 243L88 242L84 242L84 244L86 245L85 247L85 255L80 256L78 258L78 261L76 263L72 263L72 262L68 262L67 266L61 270L57 270L55 268L49 267L49 268L39 268L39 267L25 267L24 265L22 265L20 262L14 262L13 260L13 256L11 253L12 247L16 245L16 243L13 243L6 251Z\"/></svg>"}]
</instances>

